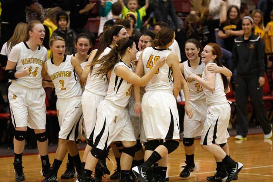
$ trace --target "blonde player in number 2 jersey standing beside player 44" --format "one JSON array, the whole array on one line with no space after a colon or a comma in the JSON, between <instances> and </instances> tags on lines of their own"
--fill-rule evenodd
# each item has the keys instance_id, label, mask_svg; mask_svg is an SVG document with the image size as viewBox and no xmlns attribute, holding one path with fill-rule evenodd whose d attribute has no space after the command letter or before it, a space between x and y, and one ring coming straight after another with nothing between
<instances>
[{"instance_id":1,"label":"blonde player in number 2 jersey standing beside player 44","mask_svg":"<svg viewBox=\"0 0 273 182\"><path fill-rule=\"evenodd\" d=\"M49 86L55 87L60 131L54 162L42 182L58 181L57 173L67 150L72 156L78 174L80 174L82 164L75 141L78 138L83 118L82 89L76 73L82 75L83 69L75 57L64 55L65 41L62 37L53 37L49 46L53 57L46 61L43 73L47 73L52 80L51 83L48 82Z\"/></svg>"}]
</instances>

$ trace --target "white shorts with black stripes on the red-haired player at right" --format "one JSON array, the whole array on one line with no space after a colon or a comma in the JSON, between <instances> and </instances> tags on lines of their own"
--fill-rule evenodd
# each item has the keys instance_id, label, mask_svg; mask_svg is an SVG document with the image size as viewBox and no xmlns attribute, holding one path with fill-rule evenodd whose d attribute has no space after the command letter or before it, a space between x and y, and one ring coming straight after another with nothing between
<instances>
[{"instance_id":1,"label":"white shorts with black stripes on the red-haired player at right","mask_svg":"<svg viewBox=\"0 0 273 182\"><path fill-rule=\"evenodd\" d=\"M209 106L207 119L201 134L201 145L222 144L229 137L227 127L230 119L230 105L224 103Z\"/></svg>"}]
</instances>

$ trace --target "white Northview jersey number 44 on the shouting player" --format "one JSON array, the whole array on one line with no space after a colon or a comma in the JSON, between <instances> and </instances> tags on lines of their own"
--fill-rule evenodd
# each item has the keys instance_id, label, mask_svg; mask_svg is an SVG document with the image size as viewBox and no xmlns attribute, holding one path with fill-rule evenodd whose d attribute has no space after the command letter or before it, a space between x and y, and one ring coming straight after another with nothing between
<instances>
[{"instance_id":1,"label":"white Northview jersey number 44 on the shouting player","mask_svg":"<svg viewBox=\"0 0 273 182\"><path fill-rule=\"evenodd\" d=\"M16 44L9 55L8 60L17 62L15 71L22 71L24 67L29 69L29 75L12 80L19 85L37 89L42 87L42 67L47 59L47 50L45 47L38 46L35 51L29 49L26 42Z\"/></svg>"}]
</instances>

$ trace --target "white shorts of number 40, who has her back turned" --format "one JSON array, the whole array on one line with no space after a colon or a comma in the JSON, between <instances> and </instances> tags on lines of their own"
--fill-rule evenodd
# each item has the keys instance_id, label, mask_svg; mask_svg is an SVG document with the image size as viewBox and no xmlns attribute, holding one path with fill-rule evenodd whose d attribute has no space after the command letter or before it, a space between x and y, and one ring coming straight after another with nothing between
<instances>
[{"instance_id":1,"label":"white shorts of number 40, who has her back turned","mask_svg":"<svg viewBox=\"0 0 273 182\"><path fill-rule=\"evenodd\" d=\"M180 138L177 104L172 92L147 91L141 108L147 139Z\"/></svg>"}]
</instances>

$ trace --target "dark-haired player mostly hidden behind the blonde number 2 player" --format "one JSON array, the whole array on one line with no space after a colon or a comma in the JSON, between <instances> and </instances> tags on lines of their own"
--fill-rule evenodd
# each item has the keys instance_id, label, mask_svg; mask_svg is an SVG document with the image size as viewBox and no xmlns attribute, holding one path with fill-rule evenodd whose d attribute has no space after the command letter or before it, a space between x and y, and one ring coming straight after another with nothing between
<instances>
[{"instance_id":1,"label":"dark-haired player mostly hidden behind the blonde number 2 player","mask_svg":"<svg viewBox=\"0 0 273 182\"><path fill-rule=\"evenodd\" d=\"M84 68L84 66L86 65L88 61L88 51L89 49L91 49L91 46L92 46L91 42L92 41L90 36L86 33L80 33L76 38L75 47L77 49L77 53L74 53L73 56L77 58L82 69ZM84 91L85 83L80 79L79 76L78 76L78 80L81 85L82 91ZM82 130L79 130L78 140L80 140L81 138L82 138ZM70 179L73 177L77 177L77 173L75 171L75 165L70 153L68 153L67 157L68 157L68 160L66 163L66 171L64 172L64 174L62 174L61 179Z\"/></svg>"}]
</instances>

